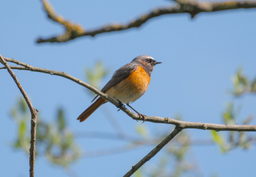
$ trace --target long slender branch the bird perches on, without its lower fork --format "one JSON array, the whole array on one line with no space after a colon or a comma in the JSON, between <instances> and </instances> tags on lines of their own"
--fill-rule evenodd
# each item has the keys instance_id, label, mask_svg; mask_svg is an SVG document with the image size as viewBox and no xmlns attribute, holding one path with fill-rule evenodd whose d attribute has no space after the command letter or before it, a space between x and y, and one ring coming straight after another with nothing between
<instances>
[{"instance_id":1,"label":"long slender branch the bird perches on, without its lower fork","mask_svg":"<svg viewBox=\"0 0 256 177\"><path fill-rule=\"evenodd\" d=\"M8 62L13 62L15 64L18 64L20 66L10 66L12 69L19 69L19 70L29 70L29 71L34 71L34 72L39 72L39 73L47 73L51 75L57 75L61 76L64 78L67 78L68 80L72 80L79 85L82 85L83 87L88 88L95 94L99 95L100 97L103 97L110 103L114 104L116 107L119 106L118 101L115 99L108 97L107 94L104 94L97 90L96 88L92 87L92 85L89 85L88 83L84 83L83 81L79 80L78 78L75 78L74 76L71 76L70 74L60 71L54 71L54 70L49 70L49 69L44 69L40 67L34 67L29 64L26 64L24 62L19 62L18 60L14 59L8 59L4 57L4 59ZM0 67L0 69L5 69L5 67ZM134 120L143 120L142 117L132 113L132 111L128 110L124 106L121 108L124 113L126 113L129 117L131 117ZM202 130L213 130L213 131L256 131L256 125L220 125L220 124L208 124L208 123L200 123L200 122L184 122L180 120L174 120L172 118L163 118L163 117L148 117L145 116L145 122L154 122L154 123L162 123L162 124L172 124L176 125L177 127L180 127L182 129L202 129Z\"/></svg>"}]
</instances>

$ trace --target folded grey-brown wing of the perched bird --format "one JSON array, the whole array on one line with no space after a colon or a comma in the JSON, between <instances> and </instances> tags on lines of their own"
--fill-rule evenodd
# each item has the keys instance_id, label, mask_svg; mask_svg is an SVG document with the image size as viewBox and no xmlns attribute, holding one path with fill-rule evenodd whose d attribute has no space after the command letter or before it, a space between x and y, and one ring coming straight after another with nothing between
<instances>
[{"instance_id":1,"label":"folded grey-brown wing of the perched bird","mask_svg":"<svg viewBox=\"0 0 256 177\"><path fill-rule=\"evenodd\" d=\"M133 71L135 71L138 68L138 65L136 64L125 64L125 66L120 67L115 71L113 74L111 80L108 81L108 83L100 90L100 92L105 93L109 88L113 87L114 85L118 84L120 81L127 78ZM97 98L96 96L92 102Z\"/></svg>"}]
</instances>

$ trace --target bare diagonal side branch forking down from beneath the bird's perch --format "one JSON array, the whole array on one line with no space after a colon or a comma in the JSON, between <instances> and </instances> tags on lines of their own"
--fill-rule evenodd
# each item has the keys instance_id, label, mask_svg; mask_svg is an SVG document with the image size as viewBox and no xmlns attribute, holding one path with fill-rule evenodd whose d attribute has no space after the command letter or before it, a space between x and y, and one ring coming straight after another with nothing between
<instances>
[{"instance_id":1,"label":"bare diagonal side branch forking down from beneath the bird's perch","mask_svg":"<svg viewBox=\"0 0 256 177\"><path fill-rule=\"evenodd\" d=\"M138 162L135 166L132 166L132 169L128 171L124 177L132 176L133 173L135 173L143 164L145 164L148 160L150 160L152 157L154 157L169 141L171 141L179 132L182 131L182 128L175 127L174 131L168 135L159 145L156 146L150 153L148 153L143 159Z\"/></svg>"}]
</instances>

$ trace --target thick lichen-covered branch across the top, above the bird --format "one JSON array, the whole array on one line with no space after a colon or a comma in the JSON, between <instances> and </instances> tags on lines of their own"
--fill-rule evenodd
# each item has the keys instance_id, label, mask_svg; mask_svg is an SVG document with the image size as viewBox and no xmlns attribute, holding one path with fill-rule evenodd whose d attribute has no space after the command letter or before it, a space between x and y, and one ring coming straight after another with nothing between
<instances>
[{"instance_id":1,"label":"thick lichen-covered branch across the top, above the bird","mask_svg":"<svg viewBox=\"0 0 256 177\"><path fill-rule=\"evenodd\" d=\"M132 27L140 27L142 24L145 24L147 20L150 20L154 17L159 17L166 14L175 14L175 13L189 13L191 18L195 17L196 14L201 12L213 12L213 11L222 11L222 10L234 10L238 8L256 8L256 1L227 1L220 3L210 3L210 2L198 2L193 0L175 0L177 4L175 6L168 6L165 8L157 8L155 10L141 15L141 17L136 20L132 20L127 24L112 24L104 25L98 29L92 31L85 31L83 27L77 24L73 24L68 20L64 20L63 17L57 15L51 4L46 0L42 0L44 4L44 10L47 13L48 18L57 22L58 24L65 27L65 33L59 36L54 36L52 38L38 38L37 43L63 43L76 39L82 36L95 36L104 32L113 32L113 31L123 31L130 29Z\"/></svg>"}]
</instances>

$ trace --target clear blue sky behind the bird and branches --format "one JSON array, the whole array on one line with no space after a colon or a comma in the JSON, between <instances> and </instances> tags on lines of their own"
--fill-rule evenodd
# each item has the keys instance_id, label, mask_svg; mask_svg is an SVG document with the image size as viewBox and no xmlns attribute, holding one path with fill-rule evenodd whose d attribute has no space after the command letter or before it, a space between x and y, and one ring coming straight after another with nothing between
<instances>
[{"instance_id":1,"label":"clear blue sky behind the bird and branches","mask_svg":"<svg viewBox=\"0 0 256 177\"><path fill-rule=\"evenodd\" d=\"M142 13L169 1L51 1L63 17L95 29L112 22L128 22ZM63 28L49 20L40 1L3 1L0 3L1 55L14 58L36 67L65 71L84 80L84 68L92 67L101 59L111 74L138 55L150 55L163 62L155 67L146 94L132 104L145 115L174 117L182 115L190 122L221 124L225 104L234 98L227 94L232 88L231 77L239 66L253 79L255 71L256 10L230 10L200 13L194 19L188 14L164 15L153 18L139 29L99 34L75 39L68 43L36 44L40 37L63 32ZM22 87L31 98L40 115L51 121L59 106L65 108L68 127L72 131L114 132L102 112L97 110L86 122L76 118L92 100L85 88L58 76L30 71L14 71ZM15 124L9 117L10 108L20 97L19 89L6 71L0 71L1 101L0 176L27 176L28 157L14 151L10 143L15 137ZM103 85L102 85L103 86ZM255 115L255 96L235 100L243 105L239 118ZM118 124L127 133L135 134L141 122L117 112L110 103L104 105L115 115ZM253 120L252 124L255 124ZM145 122L154 132L172 129L172 125ZM188 130L193 139L210 138L208 131ZM253 133L250 133L254 135ZM118 141L77 139L84 152L123 145ZM97 158L79 159L72 169L79 176L122 176L142 159L150 146L141 150ZM223 155L218 146L195 146L191 153L204 176L252 176L255 150L239 148ZM157 157L156 157L157 158ZM154 164L154 159L149 163ZM101 170L99 170L101 169ZM67 176L58 167L51 167L44 157L36 160L36 176Z\"/></svg>"}]
</instances>

